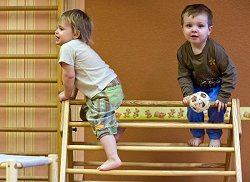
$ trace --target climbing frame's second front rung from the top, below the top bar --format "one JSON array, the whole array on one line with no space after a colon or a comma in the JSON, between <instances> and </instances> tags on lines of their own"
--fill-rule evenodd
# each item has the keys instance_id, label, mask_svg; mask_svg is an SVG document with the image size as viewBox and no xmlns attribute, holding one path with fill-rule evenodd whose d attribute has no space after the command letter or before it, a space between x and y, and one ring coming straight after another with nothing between
<instances>
[{"instance_id":1,"label":"climbing frame's second front rung from the top, below the top bar","mask_svg":"<svg viewBox=\"0 0 250 182\"><path fill-rule=\"evenodd\" d=\"M88 122L69 122L71 127L89 127ZM119 122L120 127L130 128L213 128L213 129L231 129L232 124L224 123L176 123L176 122Z\"/></svg>"}]
</instances>

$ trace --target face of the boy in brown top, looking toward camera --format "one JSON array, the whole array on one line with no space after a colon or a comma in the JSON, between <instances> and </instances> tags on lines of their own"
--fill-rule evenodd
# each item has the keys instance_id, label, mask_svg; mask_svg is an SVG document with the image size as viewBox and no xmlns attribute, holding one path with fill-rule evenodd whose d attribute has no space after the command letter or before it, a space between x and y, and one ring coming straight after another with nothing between
<instances>
[{"instance_id":1,"label":"face of the boy in brown top, looking toward camera","mask_svg":"<svg viewBox=\"0 0 250 182\"><path fill-rule=\"evenodd\" d=\"M197 47L205 44L212 31L212 26L208 26L206 14L198 14L196 16L184 14L182 26L185 38Z\"/></svg>"}]
</instances>

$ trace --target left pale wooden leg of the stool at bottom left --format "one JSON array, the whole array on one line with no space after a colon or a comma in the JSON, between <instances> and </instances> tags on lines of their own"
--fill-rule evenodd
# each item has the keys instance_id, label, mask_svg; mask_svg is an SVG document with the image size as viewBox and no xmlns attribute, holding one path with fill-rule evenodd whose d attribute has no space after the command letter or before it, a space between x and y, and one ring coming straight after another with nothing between
<instances>
[{"instance_id":1,"label":"left pale wooden leg of the stool at bottom left","mask_svg":"<svg viewBox=\"0 0 250 182\"><path fill-rule=\"evenodd\" d=\"M17 182L17 161L9 160L6 162L6 182Z\"/></svg>"}]
</instances>

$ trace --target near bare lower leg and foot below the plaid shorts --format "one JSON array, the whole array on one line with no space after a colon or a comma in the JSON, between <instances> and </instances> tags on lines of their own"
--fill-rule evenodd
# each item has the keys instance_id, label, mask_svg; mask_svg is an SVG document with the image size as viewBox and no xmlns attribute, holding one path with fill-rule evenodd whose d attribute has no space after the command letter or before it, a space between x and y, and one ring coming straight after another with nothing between
<instances>
[{"instance_id":1,"label":"near bare lower leg and foot below the plaid shorts","mask_svg":"<svg viewBox=\"0 0 250 182\"><path fill-rule=\"evenodd\" d=\"M114 135L106 135L100 139L100 142L106 153L107 160L97 169L100 171L107 171L120 167L122 162L117 154L116 140Z\"/></svg>"}]
</instances>

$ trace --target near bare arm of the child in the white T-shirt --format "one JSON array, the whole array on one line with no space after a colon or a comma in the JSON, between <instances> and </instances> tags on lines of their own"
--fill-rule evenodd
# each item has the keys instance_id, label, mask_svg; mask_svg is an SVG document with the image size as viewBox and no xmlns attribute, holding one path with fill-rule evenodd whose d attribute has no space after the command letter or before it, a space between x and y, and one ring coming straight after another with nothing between
<instances>
[{"instance_id":1,"label":"near bare arm of the child in the white T-shirt","mask_svg":"<svg viewBox=\"0 0 250 182\"><path fill-rule=\"evenodd\" d=\"M68 100L74 91L75 84L75 69L74 66L62 62L62 82L64 91L59 94L59 100Z\"/></svg>"}]
</instances>

